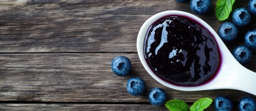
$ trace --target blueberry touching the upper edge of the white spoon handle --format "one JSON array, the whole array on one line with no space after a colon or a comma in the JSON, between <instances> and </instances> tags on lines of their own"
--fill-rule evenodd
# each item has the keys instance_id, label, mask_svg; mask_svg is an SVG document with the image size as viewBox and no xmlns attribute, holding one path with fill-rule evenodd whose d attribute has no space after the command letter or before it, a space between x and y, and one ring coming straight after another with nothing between
<instances>
[{"instance_id":1,"label":"blueberry touching the upper edge of the white spoon handle","mask_svg":"<svg viewBox=\"0 0 256 111\"><path fill-rule=\"evenodd\" d=\"M252 57L251 51L249 48L247 48L244 45L240 45L237 46L234 50L233 50L233 56L235 57L235 59L241 63L242 65L247 64Z\"/></svg>"}]
</instances>

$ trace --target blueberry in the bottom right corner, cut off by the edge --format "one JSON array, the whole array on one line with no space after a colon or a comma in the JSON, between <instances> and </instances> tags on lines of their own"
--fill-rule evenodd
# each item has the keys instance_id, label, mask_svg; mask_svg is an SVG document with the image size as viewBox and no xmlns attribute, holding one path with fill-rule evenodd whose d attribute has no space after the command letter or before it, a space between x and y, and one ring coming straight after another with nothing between
<instances>
[{"instance_id":1,"label":"blueberry in the bottom right corner, cut off by the edge","mask_svg":"<svg viewBox=\"0 0 256 111\"><path fill-rule=\"evenodd\" d=\"M238 102L239 111L256 111L256 100L250 96L243 97Z\"/></svg>"}]
</instances>

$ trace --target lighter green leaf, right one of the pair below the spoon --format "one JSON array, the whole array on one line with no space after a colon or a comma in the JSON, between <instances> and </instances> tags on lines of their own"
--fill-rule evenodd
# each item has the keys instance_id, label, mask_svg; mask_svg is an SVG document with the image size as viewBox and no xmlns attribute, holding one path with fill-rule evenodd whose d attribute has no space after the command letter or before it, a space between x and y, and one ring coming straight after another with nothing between
<instances>
[{"instance_id":1,"label":"lighter green leaf, right one of the pair below the spoon","mask_svg":"<svg viewBox=\"0 0 256 111\"><path fill-rule=\"evenodd\" d=\"M203 111L206 109L209 105L211 105L213 102L212 99L209 98L203 98L199 99L198 101L194 102L194 104L191 106L191 111Z\"/></svg>"}]
</instances>

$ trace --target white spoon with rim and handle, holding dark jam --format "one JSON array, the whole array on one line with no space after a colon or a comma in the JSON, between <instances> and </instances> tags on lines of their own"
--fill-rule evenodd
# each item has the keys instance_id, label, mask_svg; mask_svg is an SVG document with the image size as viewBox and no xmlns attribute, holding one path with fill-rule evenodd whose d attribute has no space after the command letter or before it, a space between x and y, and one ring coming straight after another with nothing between
<instances>
[{"instance_id":1,"label":"white spoon with rim and handle, holding dark jam","mask_svg":"<svg viewBox=\"0 0 256 111\"><path fill-rule=\"evenodd\" d=\"M160 79L154 72L152 72L151 68L148 66L145 57L144 57L144 42L145 42L145 36L147 34L147 31L151 25L157 21L158 19L161 19L166 16L172 16L172 15L180 15L180 16L186 16L188 18L194 19L197 23L201 23L203 27L206 27L208 31L213 34L216 43L219 47L219 53L221 55L221 62L219 66L219 72L216 74L215 78L211 81L209 81L206 84L199 85L199 86L177 86L170 84L162 79ZM137 38L137 50L138 50L138 56L140 61L142 62L142 65L146 69L146 71L159 83L181 91L201 91L201 90L212 90L212 89L235 89L235 90L241 90L247 93L251 93L256 95L256 73L253 71L250 71L247 68L244 68L239 62L237 62L234 58L234 56L230 53L226 45L222 42L221 38L218 36L218 34L212 29L210 25L208 25L205 21L202 19L182 11L165 11L160 12L155 15L153 15L151 18L145 21L145 23L142 25L141 29L138 33Z\"/></svg>"}]
</instances>

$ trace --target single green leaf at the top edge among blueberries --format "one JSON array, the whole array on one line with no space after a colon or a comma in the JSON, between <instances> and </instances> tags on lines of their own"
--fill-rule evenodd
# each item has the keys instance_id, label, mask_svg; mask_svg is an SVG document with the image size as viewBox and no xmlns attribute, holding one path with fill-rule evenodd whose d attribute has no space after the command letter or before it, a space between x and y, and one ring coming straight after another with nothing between
<instances>
[{"instance_id":1,"label":"single green leaf at the top edge among blueberries","mask_svg":"<svg viewBox=\"0 0 256 111\"><path fill-rule=\"evenodd\" d=\"M217 19L219 19L220 21L228 19L228 16L232 11L232 6L234 2L235 0L218 0L215 10Z\"/></svg>"}]
</instances>

